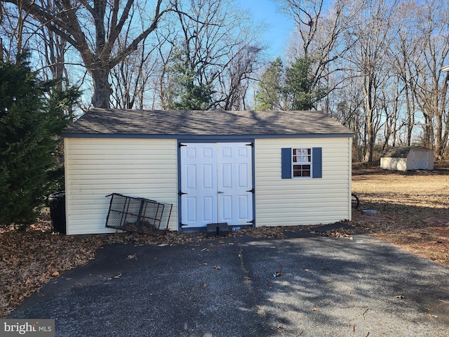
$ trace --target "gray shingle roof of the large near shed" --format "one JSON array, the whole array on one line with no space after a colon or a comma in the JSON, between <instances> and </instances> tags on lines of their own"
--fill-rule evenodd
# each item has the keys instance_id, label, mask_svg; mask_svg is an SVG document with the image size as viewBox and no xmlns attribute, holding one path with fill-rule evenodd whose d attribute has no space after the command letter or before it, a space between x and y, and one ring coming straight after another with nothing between
<instances>
[{"instance_id":1,"label":"gray shingle roof of the large near shed","mask_svg":"<svg viewBox=\"0 0 449 337\"><path fill-rule=\"evenodd\" d=\"M352 136L319 111L89 110L63 136Z\"/></svg>"}]
</instances>

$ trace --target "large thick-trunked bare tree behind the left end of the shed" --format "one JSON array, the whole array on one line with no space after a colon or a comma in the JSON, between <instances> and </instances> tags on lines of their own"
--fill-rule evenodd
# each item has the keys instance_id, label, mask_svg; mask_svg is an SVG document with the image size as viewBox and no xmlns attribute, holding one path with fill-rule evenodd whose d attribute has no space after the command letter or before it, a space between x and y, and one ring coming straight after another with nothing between
<instances>
[{"instance_id":1,"label":"large thick-trunked bare tree behind the left end of the shed","mask_svg":"<svg viewBox=\"0 0 449 337\"><path fill-rule=\"evenodd\" d=\"M173 8L170 2L163 6L165 1L157 0L151 10L145 1L142 6L151 14L142 18L145 28L129 39L126 46L119 46L117 41L124 27L132 25L129 18L136 10L134 0L61 0L60 8L47 8L42 0L4 1L22 8L79 52L93 79L92 104L95 107L109 107L110 71L135 51L154 32L163 15Z\"/></svg>"}]
</instances>

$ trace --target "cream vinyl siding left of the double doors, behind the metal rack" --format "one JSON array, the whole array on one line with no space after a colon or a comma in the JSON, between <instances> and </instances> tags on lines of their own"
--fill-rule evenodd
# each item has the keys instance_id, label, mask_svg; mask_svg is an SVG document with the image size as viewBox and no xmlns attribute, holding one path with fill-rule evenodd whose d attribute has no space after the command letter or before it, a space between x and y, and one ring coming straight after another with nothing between
<instances>
[{"instance_id":1,"label":"cream vinyl siding left of the double doors, behind the metal rack","mask_svg":"<svg viewBox=\"0 0 449 337\"><path fill-rule=\"evenodd\" d=\"M67 234L115 232L105 227L112 193L173 204L177 230L174 139L65 138Z\"/></svg>"}]
</instances>

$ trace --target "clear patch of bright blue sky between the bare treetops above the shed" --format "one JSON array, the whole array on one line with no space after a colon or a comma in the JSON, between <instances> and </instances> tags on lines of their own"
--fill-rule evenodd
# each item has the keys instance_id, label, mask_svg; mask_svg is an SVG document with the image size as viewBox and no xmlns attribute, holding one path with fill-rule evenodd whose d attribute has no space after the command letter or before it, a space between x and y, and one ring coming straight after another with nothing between
<instances>
[{"instance_id":1,"label":"clear patch of bright blue sky between the bare treetops above the shed","mask_svg":"<svg viewBox=\"0 0 449 337\"><path fill-rule=\"evenodd\" d=\"M288 37L293 32L294 25L288 15L279 13L272 0L237 0L241 8L253 13L256 22L265 22L267 27L262 40L269 46L269 55L274 59L283 57Z\"/></svg>"}]
</instances>

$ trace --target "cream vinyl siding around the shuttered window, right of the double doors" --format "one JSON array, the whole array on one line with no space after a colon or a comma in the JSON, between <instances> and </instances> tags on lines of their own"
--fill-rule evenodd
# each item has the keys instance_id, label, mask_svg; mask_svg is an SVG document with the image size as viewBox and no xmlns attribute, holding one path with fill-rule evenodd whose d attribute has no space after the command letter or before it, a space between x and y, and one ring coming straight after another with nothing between
<instances>
[{"instance_id":1,"label":"cream vinyl siding around the shuttered window, right of the double doors","mask_svg":"<svg viewBox=\"0 0 449 337\"><path fill-rule=\"evenodd\" d=\"M281 178L282 147L321 147L323 178ZM256 226L351 219L351 138L255 140Z\"/></svg>"}]
</instances>

